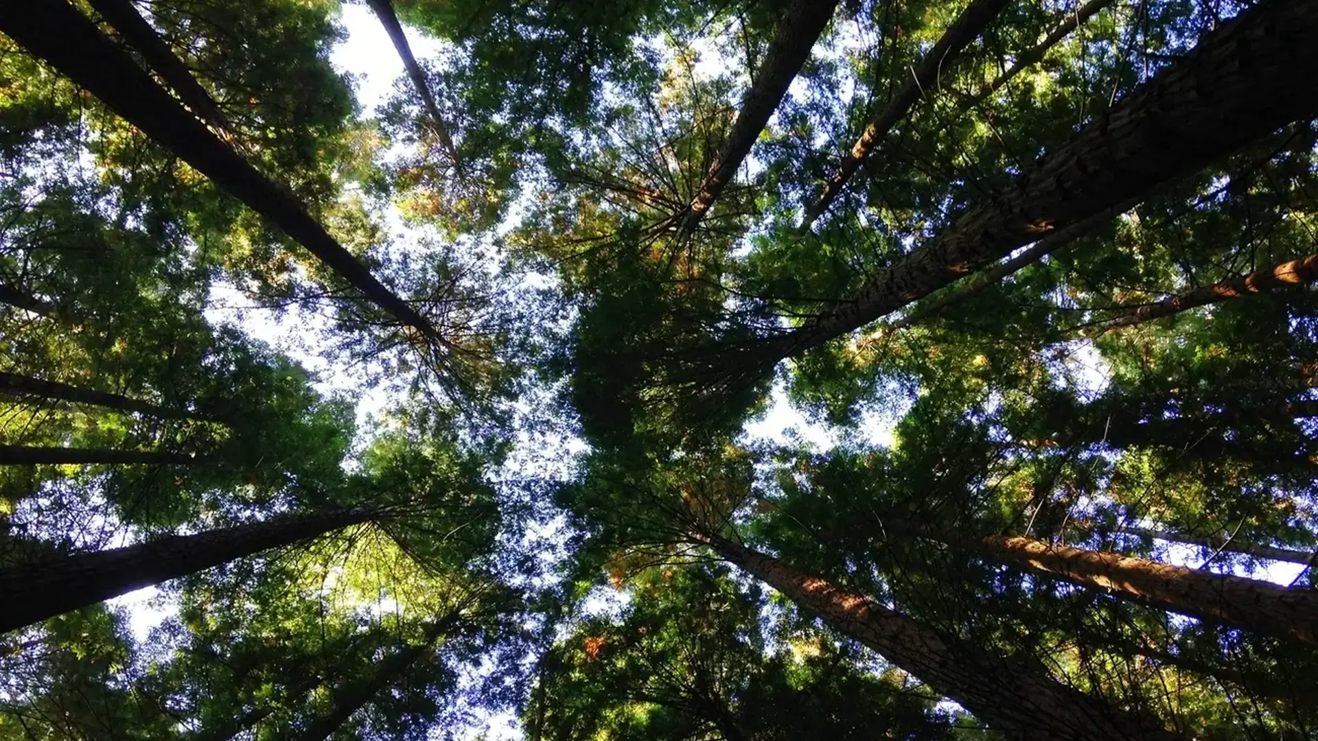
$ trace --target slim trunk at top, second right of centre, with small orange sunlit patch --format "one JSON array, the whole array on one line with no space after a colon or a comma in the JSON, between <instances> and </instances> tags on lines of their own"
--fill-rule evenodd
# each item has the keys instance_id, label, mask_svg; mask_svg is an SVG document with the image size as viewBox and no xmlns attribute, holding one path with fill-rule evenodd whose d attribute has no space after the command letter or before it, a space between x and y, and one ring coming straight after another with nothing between
<instances>
[{"instance_id":1,"label":"slim trunk at top, second right of centre, with small orange sunlit patch","mask_svg":"<svg viewBox=\"0 0 1318 741\"><path fill-rule=\"evenodd\" d=\"M865 132L851 145L851 150L842 157L842 163L838 165L837 171L824 185L824 193L805 210L805 218L801 220L801 231L809 229L811 224L837 200L846 182L861 169L861 165L870 157L883 137L892 131L892 127L898 121L911 112L911 108L925 95L927 90L938 86L938 76L956 67L966 46L975 38L979 38L985 28L998 17L998 13L1007 4L1008 0L974 0L948 26L942 37L938 38L933 47L911 70L911 78L898 88L892 99L888 100L888 104L879 111L879 115L870 121L870 125L865 127Z\"/></svg>"}]
</instances>

